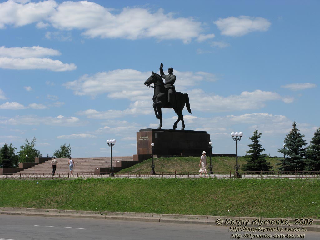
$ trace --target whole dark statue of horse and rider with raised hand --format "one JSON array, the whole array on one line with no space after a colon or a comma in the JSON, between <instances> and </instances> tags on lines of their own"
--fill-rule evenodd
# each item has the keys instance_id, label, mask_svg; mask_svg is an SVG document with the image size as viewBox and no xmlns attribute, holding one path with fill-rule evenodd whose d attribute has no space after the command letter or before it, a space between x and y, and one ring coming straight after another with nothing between
<instances>
[{"instance_id":1,"label":"whole dark statue of horse and rider with raised hand","mask_svg":"<svg viewBox=\"0 0 320 240\"><path fill-rule=\"evenodd\" d=\"M153 108L155 110L156 118L160 120L158 129L162 128L162 111L161 108L173 108L178 115L177 121L173 124L173 129L177 128L177 124L182 123L181 130L186 127L184 125L182 110L184 106L187 106L188 112L192 114L189 103L189 96L187 93L176 92L174 82L176 76L173 74L173 68L168 69L168 75L164 74L163 64L160 64L160 75L152 72L152 75L145 81L145 85L149 88L153 88ZM163 79L165 83L163 82Z\"/></svg>"}]
</instances>

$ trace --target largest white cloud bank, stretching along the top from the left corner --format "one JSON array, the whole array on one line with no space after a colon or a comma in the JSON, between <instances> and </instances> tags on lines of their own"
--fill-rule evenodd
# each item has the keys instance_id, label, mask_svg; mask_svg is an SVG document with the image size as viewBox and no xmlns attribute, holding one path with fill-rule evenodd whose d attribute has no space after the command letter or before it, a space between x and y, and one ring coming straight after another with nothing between
<instances>
[{"instance_id":1,"label":"largest white cloud bank, stretching along the top from the left corner","mask_svg":"<svg viewBox=\"0 0 320 240\"><path fill-rule=\"evenodd\" d=\"M158 40L177 39L187 44L192 39L203 41L214 36L202 34L202 23L191 17L175 17L162 9L152 12L139 7L126 7L116 14L112 9L89 1L65 1L61 4L55 1L37 4L8 1L0 4L0 16L0 28L31 23L36 23L37 28L46 28L50 24L59 30L83 30L83 35L90 38L135 40L153 37Z\"/></svg>"}]
</instances>

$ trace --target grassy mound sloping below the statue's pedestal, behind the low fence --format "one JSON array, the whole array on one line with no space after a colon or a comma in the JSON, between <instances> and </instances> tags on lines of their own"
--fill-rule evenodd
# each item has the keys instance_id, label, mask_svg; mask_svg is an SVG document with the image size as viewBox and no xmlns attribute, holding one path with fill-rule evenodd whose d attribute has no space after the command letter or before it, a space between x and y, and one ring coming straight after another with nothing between
<instances>
[{"instance_id":1,"label":"grassy mound sloping below the statue's pedestal, behind the low fence","mask_svg":"<svg viewBox=\"0 0 320 240\"><path fill-rule=\"evenodd\" d=\"M274 169L277 168L276 163L280 162L280 158L277 157L267 157L268 162ZM236 164L235 157L212 157L212 171L218 172L228 172L234 171L233 167ZM155 170L156 172L197 172L199 171L199 157L159 157L154 158ZM246 164L246 157L238 157L238 164L241 166ZM210 164L210 157L207 156L207 164ZM139 164L135 164L130 168L122 170L122 172L150 172L152 165L152 159L145 160Z\"/></svg>"}]
</instances>

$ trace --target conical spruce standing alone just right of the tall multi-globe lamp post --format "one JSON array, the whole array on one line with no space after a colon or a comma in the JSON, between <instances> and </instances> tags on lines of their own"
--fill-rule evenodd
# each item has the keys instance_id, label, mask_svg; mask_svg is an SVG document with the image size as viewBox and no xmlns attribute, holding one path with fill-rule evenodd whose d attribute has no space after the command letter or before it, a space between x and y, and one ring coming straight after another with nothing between
<instances>
[{"instance_id":1,"label":"conical spruce standing alone just right of the tall multi-globe lamp post","mask_svg":"<svg viewBox=\"0 0 320 240\"><path fill-rule=\"evenodd\" d=\"M246 153L250 154L247 159L247 164L243 165L244 171L269 171L272 167L269 162L267 162L266 154L262 154L262 152L265 150L262 148L262 145L260 144L259 138L261 137L261 132L258 132L258 129L256 129L253 132L253 136L249 138L252 140L252 144L249 144L250 147L249 151L246 151Z\"/></svg>"}]
</instances>

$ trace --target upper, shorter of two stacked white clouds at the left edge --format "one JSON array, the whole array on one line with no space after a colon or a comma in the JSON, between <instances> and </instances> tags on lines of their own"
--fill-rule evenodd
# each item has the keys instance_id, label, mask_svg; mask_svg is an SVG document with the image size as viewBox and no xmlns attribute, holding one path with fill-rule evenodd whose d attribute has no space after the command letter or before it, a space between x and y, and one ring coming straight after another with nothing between
<instances>
[{"instance_id":1,"label":"upper, shorter of two stacked white clouds at the left edge","mask_svg":"<svg viewBox=\"0 0 320 240\"><path fill-rule=\"evenodd\" d=\"M8 58L41 58L47 56L59 56L61 53L58 50L44 48L40 46L33 47L0 47L0 57Z\"/></svg>"}]
</instances>

